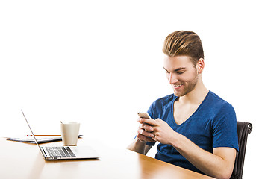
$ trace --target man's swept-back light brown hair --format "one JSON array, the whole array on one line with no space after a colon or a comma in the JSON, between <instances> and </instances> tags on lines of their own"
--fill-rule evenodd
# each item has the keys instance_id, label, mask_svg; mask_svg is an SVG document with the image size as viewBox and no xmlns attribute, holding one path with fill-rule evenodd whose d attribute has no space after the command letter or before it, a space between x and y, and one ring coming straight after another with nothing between
<instances>
[{"instance_id":1,"label":"man's swept-back light brown hair","mask_svg":"<svg viewBox=\"0 0 256 179\"><path fill-rule=\"evenodd\" d=\"M170 57L188 56L194 66L200 58L204 58L202 42L193 31L175 31L169 34L163 43L163 53Z\"/></svg>"}]
</instances>

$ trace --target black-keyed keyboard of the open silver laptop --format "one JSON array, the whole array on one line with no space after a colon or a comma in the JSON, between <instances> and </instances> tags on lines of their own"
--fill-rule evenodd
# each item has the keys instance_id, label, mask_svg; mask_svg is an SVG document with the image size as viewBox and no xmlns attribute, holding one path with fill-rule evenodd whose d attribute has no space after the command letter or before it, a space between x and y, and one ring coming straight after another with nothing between
<instances>
[{"instance_id":1,"label":"black-keyed keyboard of the open silver laptop","mask_svg":"<svg viewBox=\"0 0 256 179\"><path fill-rule=\"evenodd\" d=\"M51 157L75 157L69 147L46 147Z\"/></svg>"}]
</instances>

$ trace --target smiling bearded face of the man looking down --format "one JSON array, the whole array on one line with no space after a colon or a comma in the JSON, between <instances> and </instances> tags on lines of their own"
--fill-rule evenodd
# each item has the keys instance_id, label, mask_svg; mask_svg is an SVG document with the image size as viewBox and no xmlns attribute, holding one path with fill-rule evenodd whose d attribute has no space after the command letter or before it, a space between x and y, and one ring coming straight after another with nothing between
<instances>
[{"instance_id":1,"label":"smiling bearded face of the man looking down","mask_svg":"<svg viewBox=\"0 0 256 179\"><path fill-rule=\"evenodd\" d=\"M165 55L163 69L166 70L166 78L172 85L174 94L178 97L187 95L195 89L199 80L196 67L193 66L190 57Z\"/></svg>"}]
</instances>

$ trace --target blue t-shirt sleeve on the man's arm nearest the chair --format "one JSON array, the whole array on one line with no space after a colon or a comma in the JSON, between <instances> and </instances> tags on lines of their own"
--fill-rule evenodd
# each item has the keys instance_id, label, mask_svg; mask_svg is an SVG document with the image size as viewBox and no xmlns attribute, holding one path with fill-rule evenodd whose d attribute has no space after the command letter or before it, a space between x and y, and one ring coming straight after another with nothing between
<instances>
[{"instance_id":1,"label":"blue t-shirt sleeve on the man's arm nearest the chair","mask_svg":"<svg viewBox=\"0 0 256 179\"><path fill-rule=\"evenodd\" d=\"M213 119L213 148L238 148L237 118L231 104L222 107L222 110Z\"/></svg>"}]
</instances>

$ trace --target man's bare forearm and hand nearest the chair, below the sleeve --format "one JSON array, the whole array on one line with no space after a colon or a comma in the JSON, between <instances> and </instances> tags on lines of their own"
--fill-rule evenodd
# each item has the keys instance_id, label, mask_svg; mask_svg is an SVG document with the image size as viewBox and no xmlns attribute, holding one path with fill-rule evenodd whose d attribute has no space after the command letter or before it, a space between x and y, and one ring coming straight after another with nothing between
<instances>
[{"instance_id":1,"label":"man's bare forearm and hand nearest the chair, below the sleeve","mask_svg":"<svg viewBox=\"0 0 256 179\"><path fill-rule=\"evenodd\" d=\"M161 119L140 119L144 124L146 131L154 134L153 139L172 145L181 155L190 161L205 174L214 178L230 178L236 150L234 148L213 148L213 154L200 148L187 137L173 131L172 128Z\"/></svg>"}]
</instances>

